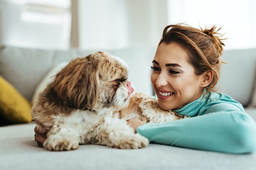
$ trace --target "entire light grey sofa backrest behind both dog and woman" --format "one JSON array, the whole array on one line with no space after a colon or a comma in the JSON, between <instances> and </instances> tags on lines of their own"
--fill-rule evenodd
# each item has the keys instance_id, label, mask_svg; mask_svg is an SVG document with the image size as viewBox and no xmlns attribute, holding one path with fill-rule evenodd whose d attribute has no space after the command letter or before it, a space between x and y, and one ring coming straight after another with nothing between
<instances>
[{"instance_id":1,"label":"entire light grey sofa backrest behind both dog and woman","mask_svg":"<svg viewBox=\"0 0 256 170\"><path fill-rule=\"evenodd\" d=\"M156 47L136 47L106 52L127 62L129 79L135 92L152 95L150 66L155 50ZM31 101L35 88L54 65L97 51L99 50L35 50L3 46L0 48L0 75ZM251 99L256 79L256 48L226 50L221 59L228 64L222 66L218 90L246 106Z\"/></svg>"}]
</instances>

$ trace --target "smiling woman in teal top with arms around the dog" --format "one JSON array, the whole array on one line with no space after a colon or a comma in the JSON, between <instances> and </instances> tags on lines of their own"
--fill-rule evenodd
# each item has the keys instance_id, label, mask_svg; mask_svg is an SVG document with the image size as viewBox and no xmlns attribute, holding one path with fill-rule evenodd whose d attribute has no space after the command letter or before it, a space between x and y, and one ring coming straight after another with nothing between
<instances>
[{"instance_id":1,"label":"smiling woman in teal top with arms around the dog","mask_svg":"<svg viewBox=\"0 0 256 170\"><path fill-rule=\"evenodd\" d=\"M163 31L151 74L159 106L174 109L188 119L166 123L127 120L136 133L150 142L225 153L256 150L256 123L240 103L213 92L219 79L223 52L216 27L197 29L183 24ZM39 146L45 140L37 133Z\"/></svg>"}]
</instances>

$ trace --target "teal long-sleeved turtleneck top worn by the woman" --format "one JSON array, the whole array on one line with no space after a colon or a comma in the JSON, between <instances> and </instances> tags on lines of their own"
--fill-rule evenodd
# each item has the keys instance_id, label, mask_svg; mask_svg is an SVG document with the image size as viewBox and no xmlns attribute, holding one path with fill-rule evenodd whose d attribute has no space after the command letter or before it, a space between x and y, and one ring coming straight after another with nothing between
<instances>
[{"instance_id":1,"label":"teal long-sleeved turtleneck top worn by the woman","mask_svg":"<svg viewBox=\"0 0 256 170\"><path fill-rule=\"evenodd\" d=\"M256 150L256 122L242 105L223 93L210 92L175 110L187 119L146 123L137 133L150 142L225 153Z\"/></svg>"}]
</instances>

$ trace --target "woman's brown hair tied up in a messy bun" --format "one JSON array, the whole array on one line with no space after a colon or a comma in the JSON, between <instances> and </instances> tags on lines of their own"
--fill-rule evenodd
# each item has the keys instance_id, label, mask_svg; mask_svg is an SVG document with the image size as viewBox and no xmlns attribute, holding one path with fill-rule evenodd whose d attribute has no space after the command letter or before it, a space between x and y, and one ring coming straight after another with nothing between
<instances>
[{"instance_id":1,"label":"woman's brown hair tied up in a messy bun","mask_svg":"<svg viewBox=\"0 0 256 170\"><path fill-rule=\"evenodd\" d=\"M214 90L218 79L223 46L220 39L223 35L218 33L221 29L216 30L216 25L210 29L197 29L185 24L168 25L163 30L163 36L158 46L161 43L178 43L189 55L188 62L195 68L196 75L202 75L205 71L213 71L211 83L205 87L206 93L204 96Z\"/></svg>"}]
</instances>

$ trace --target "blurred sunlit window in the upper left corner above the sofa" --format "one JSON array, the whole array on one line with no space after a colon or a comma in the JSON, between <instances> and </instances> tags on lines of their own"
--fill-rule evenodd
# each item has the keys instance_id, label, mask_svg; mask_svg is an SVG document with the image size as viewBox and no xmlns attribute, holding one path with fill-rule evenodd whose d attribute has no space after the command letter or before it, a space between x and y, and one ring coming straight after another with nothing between
<instances>
[{"instance_id":1,"label":"blurred sunlit window in the upper left corner above the sofa","mask_svg":"<svg viewBox=\"0 0 256 170\"><path fill-rule=\"evenodd\" d=\"M1 44L70 48L71 0L0 0Z\"/></svg>"}]
</instances>

